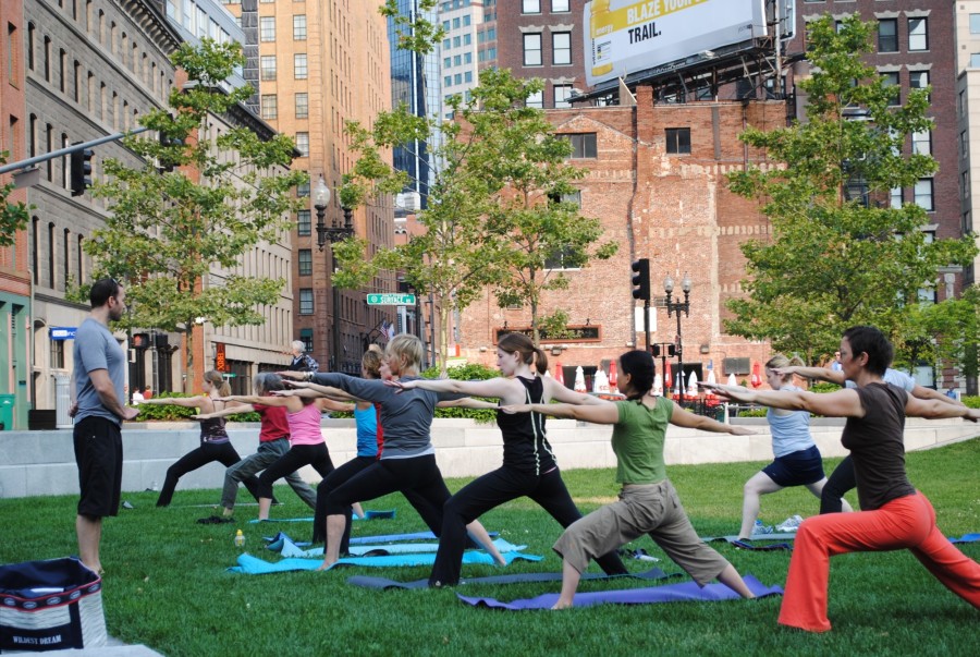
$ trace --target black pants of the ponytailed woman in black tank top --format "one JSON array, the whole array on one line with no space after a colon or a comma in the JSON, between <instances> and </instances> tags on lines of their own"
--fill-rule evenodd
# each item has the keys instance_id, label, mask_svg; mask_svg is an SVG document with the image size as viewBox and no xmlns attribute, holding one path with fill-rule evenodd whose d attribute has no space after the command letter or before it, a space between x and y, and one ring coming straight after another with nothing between
<instances>
[{"instance_id":1,"label":"black pants of the ponytailed woman in black tank top","mask_svg":"<svg viewBox=\"0 0 980 657\"><path fill-rule=\"evenodd\" d=\"M429 584L452 585L460 581L466 525L487 511L519 497L528 497L567 527L581 518L558 467L542 475L503 466L470 482L443 506L442 536ZM596 562L610 575L628 571L615 551Z\"/></svg>"}]
</instances>

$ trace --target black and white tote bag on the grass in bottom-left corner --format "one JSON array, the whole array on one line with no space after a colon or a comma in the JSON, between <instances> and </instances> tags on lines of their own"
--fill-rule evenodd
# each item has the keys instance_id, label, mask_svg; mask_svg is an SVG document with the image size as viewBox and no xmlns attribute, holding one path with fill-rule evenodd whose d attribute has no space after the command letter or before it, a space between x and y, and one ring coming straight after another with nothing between
<instances>
[{"instance_id":1,"label":"black and white tote bag on the grass in bottom-left corner","mask_svg":"<svg viewBox=\"0 0 980 657\"><path fill-rule=\"evenodd\" d=\"M0 565L0 650L106 645L102 580L77 559Z\"/></svg>"}]
</instances>

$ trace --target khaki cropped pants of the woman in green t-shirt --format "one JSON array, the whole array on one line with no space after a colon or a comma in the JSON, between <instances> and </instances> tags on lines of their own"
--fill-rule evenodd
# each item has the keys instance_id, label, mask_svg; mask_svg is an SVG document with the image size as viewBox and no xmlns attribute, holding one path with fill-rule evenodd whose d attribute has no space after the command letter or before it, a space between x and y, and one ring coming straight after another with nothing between
<instances>
[{"instance_id":1,"label":"khaki cropped pants of the woman in green t-shirt","mask_svg":"<svg viewBox=\"0 0 980 657\"><path fill-rule=\"evenodd\" d=\"M728 561L701 540L690 524L670 479L624 487L620 501L602 507L569 525L554 551L578 572L589 560L649 534L700 586L728 567Z\"/></svg>"}]
</instances>

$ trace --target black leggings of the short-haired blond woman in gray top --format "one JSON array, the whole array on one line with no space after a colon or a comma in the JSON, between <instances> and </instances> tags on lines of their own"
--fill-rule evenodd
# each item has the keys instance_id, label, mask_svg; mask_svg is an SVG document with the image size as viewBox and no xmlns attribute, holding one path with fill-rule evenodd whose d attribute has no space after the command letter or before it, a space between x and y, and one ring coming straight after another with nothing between
<instances>
[{"instance_id":1,"label":"black leggings of the short-haired blond woman in gray top","mask_svg":"<svg viewBox=\"0 0 980 657\"><path fill-rule=\"evenodd\" d=\"M450 498L436 454L382 459L327 495L327 515L341 515L354 502L402 492L436 536L442 533L442 506Z\"/></svg>"}]
</instances>

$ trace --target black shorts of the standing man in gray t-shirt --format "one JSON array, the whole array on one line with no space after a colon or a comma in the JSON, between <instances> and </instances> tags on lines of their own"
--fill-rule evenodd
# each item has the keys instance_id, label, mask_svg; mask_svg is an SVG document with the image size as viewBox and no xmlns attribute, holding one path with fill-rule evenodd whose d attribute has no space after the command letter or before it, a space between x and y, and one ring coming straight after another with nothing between
<instances>
[{"instance_id":1,"label":"black shorts of the standing man in gray t-shirt","mask_svg":"<svg viewBox=\"0 0 980 657\"><path fill-rule=\"evenodd\" d=\"M122 430L106 417L86 417L75 425L78 464L78 515L103 518L119 513L122 488Z\"/></svg>"}]
</instances>

